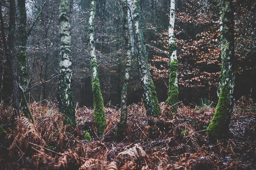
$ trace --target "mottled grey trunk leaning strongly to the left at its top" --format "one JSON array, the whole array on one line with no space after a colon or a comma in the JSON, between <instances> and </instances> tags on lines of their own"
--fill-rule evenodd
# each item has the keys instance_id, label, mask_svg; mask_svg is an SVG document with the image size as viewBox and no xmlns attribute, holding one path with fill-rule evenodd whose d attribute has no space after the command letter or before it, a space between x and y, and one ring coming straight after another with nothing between
<instances>
[{"instance_id":1,"label":"mottled grey trunk leaning strongly to the left at its top","mask_svg":"<svg viewBox=\"0 0 256 170\"><path fill-rule=\"evenodd\" d=\"M141 26L141 10L139 4L139 0L133 0L134 43L138 55L139 76L143 89L143 102L146 107L147 115L157 117L160 114L160 107L155 92L155 85L150 75Z\"/></svg>"}]
</instances>

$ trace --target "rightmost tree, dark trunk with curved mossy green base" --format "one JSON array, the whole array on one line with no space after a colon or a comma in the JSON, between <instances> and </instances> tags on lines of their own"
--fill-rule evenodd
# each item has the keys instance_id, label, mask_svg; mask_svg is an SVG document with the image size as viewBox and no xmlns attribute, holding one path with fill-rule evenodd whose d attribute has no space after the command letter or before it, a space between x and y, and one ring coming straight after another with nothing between
<instances>
[{"instance_id":1,"label":"rightmost tree, dark trunk with curved mossy green base","mask_svg":"<svg viewBox=\"0 0 256 170\"><path fill-rule=\"evenodd\" d=\"M232 1L220 1L221 91L212 122L207 127L209 140L226 138L233 111L234 89L234 11Z\"/></svg>"}]
</instances>

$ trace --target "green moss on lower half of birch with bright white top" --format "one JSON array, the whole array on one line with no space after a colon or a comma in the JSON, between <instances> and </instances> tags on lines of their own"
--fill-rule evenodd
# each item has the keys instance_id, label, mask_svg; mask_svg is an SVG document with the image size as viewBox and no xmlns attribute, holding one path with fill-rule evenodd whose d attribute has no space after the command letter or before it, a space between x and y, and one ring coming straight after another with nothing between
<instances>
[{"instance_id":1,"label":"green moss on lower half of birch with bright white top","mask_svg":"<svg viewBox=\"0 0 256 170\"><path fill-rule=\"evenodd\" d=\"M170 63L169 89L168 89L168 98L166 101L166 105L172 106L174 113L177 112L177 105L175 105L175 103L177 103L179 99L179 90L178 90L178 87L175 85L175 81L177 77L177 68L178 68L177 59L174 59Z\"/></svg>"}]
</instances>

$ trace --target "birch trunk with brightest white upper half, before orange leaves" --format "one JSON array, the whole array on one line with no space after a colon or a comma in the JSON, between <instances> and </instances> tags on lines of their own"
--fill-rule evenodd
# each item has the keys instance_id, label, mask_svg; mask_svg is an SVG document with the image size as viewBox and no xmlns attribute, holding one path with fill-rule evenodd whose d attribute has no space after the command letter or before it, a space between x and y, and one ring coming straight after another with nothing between
<instances>
[{"instance_id":1,"label":"birch trunk with brightest white upper half, before orange leaves","mask_svg":"<svg viewBox=\"0 0 256 170\"><path fill-rule=\"evenodd\" d=\"M176 55L176 44L174 39L174 23L175 23L175 0L171 0L170 5L170 23L168 29L168 38L169 38L169 55L170 55L170 78L169 78L169 89L168 89L168 98L166 105L172 106L174 113L177 112L179 90L177 87L177 68L178 61Z\"/></svg>"}]
</instances>

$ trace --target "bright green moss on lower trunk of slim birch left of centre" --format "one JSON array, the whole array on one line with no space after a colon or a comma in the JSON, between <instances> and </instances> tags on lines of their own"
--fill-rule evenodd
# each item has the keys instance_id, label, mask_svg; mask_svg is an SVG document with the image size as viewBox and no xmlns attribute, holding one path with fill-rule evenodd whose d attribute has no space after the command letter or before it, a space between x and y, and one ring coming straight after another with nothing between
<instances>
[{"instance_id":1,"label":"bright green moss on lower trunk of slim birch left of centre","mask_svg":"<svg viewBox=\"0 0 256 170\"><path fill-rule=\"evenodd\" d=\"M104 102L100 90L100 81L98 77L92 80L93 91L93 106L94 106L94 120L97 127L97 132L102 135L106 129L106 116L104 110Z\"/></svg>"}]
</instances>

